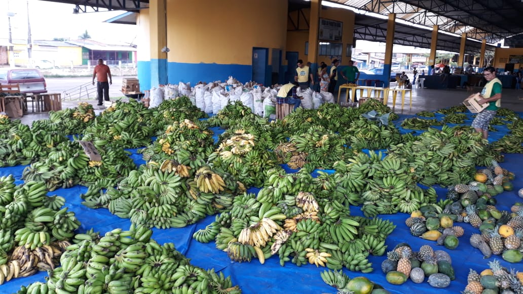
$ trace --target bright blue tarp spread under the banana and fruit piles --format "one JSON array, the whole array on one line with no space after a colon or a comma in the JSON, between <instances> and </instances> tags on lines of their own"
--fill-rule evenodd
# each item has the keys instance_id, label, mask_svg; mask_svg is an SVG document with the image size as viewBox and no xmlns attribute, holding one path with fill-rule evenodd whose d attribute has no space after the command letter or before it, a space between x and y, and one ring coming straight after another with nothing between
<instances>
[{"instance_id":1,"label":"bright blue tarp spread under the banana and fruit piles","mask_svg":"<svg viewBox=\"0 0 523 294\"><path fill-rule=\"evenodd\" d=\"M400 122L407 117L400 117ZM437 114L437 119L442 119L442 116ZM470 124L470 122L467 122ZM499 126L495 126L499 130ZM223 133L224 130L221 128L212 128L214 131L214 138L217 139L218 135ZM405 130L410 132L412 130ZM419 132L421 133L421 132ZM491 133L491 136L496 136L495 133ZM127 149L132 155L131 158L135 163L144 163L142 156L137 154L138 149ZM366 150L369 152L368 150ZM523 201L517 195L517 191L523 187L523 177L519 178L519 168L523 164L523 155L521 154L507 154L505 155L505 162L502 163L502 167L509 171L516 173L516 179L514 183L514 191L504 192L496 196L498 201L497 207L500 210L509 210L510 206L515 202ZM282 165L287 172L296 172L286 166ZM0 168L0 176L13 174L20 180L24 166ZM312 174L317 177L318 171L315 170ZM321 170L327 173L334 172L333 170ZM18 181L21 183L21 181ZM438 193L438 199L445 198L446 189L442 187L435 187ZM79 195L87 191L86 187L74 186L70 189L58 189L54 192L50 192L48 195L60 195L66 199L66 206L70 210L74 211L76 217L82 222L82 226L79 228L80 232L87 229L94 228L95 231L105 233L114 228L128 229L130 226L129 219L121 219L109 213L105 208L90 209L81 204L82 199ZM257 193L258 188L251 188L248 190L250 193ZM350 207L351 215L362 216L360 207ZM469 224L460 223L458 225L465 229L463 237L459 238L460 244L455 250L447 250L443 246L437 246L435 242L423 240L418 237L413 237L407 226L405 225L405 219L408 217L407 214L398 213L395 215L380 215L380 218L388 219L396 225L396 229L390 234L389 238L386 239L386 244L389 246L388 251L392 250L394 246L400 242L407 242L411 244L414 250L418 250L421 245L428 244L433 246L434 250L445 250L452 257L452 263L456 272L456 280L452 281L450 287L443 290L430 287L426 282L423 284L414 284L408 280L401 286L395 286L385 281L385 275L381 272L381 262L386 258L385 256L369 256L369 260L373 263L374 271L370 274L361 274L359 272L349 272L345 270L345 273L349 277L365 276L370 280L374 281L385 287L392 293L403 294L414 291L425 291L426 293L440 293L444 291L446 293L459 293L467 285L467 274L469 268L475 269L480 272L488 267L488 261L498 259L502 265L507 268L515 268L519 271L523 270L523 265L510 264L501 259L501 256L495 256L488 259L483 259L480 251L472 248L469 243L469 238L472 233L478 233L479 230L473 228ZM213 267L216 271L223 272L226 276L231 276L233 285L239 285L244 293L335 293L335 289L323 283L320 272L326 268L317 268L314 265L304 265L298 268L294 264L287 262L285 267L279 265L278 256L272 256L266 260L264 265L259 264L257 260L253 260L251 263L237 263L232 262L225 252L219 251L214 247L214 243L199 243L192 239L192 233L196 230L204 228L214 220L214 216L209 216L205 219L200 220L197 224L188 226L181 229L166 229L159 230L153 229L154 233L152 238L159 243L173 242L176 245L177 250L191 258L191 263L203 267ZM38 273L27 278L13 279L4 285L0 286L0 293L14 293L21 285L28 285L35 281L44 281L44 277L47 276L46 272Z\"/></svg>"}]
</instances>

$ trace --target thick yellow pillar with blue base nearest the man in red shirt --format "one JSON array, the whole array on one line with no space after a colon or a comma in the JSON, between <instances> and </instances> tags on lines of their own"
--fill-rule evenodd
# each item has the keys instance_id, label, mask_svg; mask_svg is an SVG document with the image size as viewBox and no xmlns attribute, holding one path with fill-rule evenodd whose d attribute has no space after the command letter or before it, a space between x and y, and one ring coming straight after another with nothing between
<instances>
[{"instance_id":1,"label":"thick yellow pillar with blue base nearest the man in red shirt","mask_svg":"<svg viewBox=\"0 0 523 294\"><path fill-rule=\"evenodd\" d=\"M167 84L167 53L162 52L162 48L167 46L166 1L149 3L151 87Z\"/></svg>"}]
</instances>

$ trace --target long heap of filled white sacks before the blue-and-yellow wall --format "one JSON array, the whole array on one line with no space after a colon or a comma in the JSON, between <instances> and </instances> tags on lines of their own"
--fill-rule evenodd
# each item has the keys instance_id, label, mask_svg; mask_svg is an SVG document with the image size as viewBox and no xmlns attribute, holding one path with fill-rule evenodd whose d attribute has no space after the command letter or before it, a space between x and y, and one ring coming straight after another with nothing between
<instances>
[{"instance_id":1,"label":"long heap of filled white sacks before the blue-and-yellow wall","mask_svg":"<svg viewBox=\"0 0 523 294\"><path fill-rule=\"evenodd\" d=\"M274 119L276 116L276 96L281 85L272 87L258 86L255 83L242 85L235 78L229 77L225 83L200 83L191 88L190 83L166 85L151 89L150 107L157 107L165 99L176 99L187 96L192 104L206 113L216 114L228 103L242 101L257 115ZM312 89L298 91L298 96L303 97L301 107L317 109L323 103L334 103L334 96L329 92L315 92Z\"/></svg>"}]
</instances>

